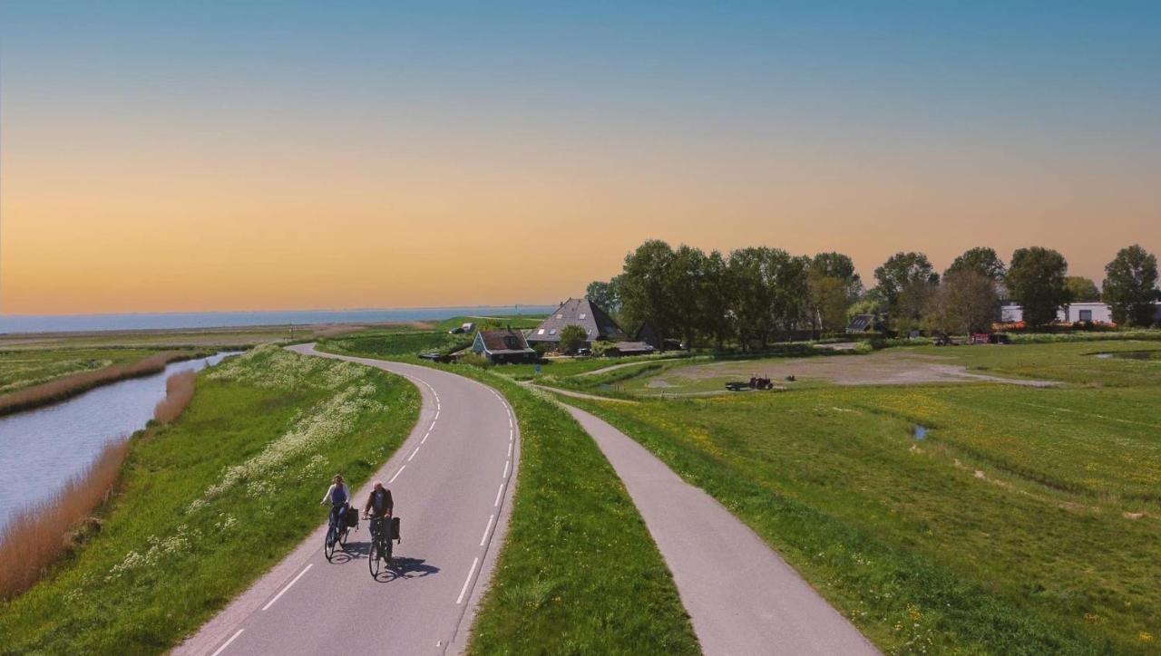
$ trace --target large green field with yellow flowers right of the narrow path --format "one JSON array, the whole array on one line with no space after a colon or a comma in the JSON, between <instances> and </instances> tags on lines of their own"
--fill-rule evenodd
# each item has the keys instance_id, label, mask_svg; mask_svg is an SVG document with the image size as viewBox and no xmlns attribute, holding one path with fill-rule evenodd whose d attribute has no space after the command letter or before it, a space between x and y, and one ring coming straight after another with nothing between
<instances>
[{"instance_id":1,"label":"large green field with yellow flowers right of the narrow path","mask_svg":"<svg viewBox=\"0 0 1161 656\"><path fill-rule=\"evenodd\" d=\"M1047 388L567 401L719 498L886 651L1146 654L1161 649L1161 360L1095 353L1156 348L915 350L1062 381Z\"/></svg>"}]
</instances>

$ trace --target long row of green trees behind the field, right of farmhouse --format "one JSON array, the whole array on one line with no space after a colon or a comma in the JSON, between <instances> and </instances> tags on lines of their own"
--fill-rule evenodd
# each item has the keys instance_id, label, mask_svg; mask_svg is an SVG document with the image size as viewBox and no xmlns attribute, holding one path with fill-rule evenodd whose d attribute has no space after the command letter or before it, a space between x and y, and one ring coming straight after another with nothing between
<instances>
[{"instance_id":1,"label":"long row of green trees behind the field, right of farmhouse","mask_svg":"<svg viewBox=\"0 0 1161 656\"><path fill-rule=\"evenodd\" d=\"M1117 323L1147 326L1161 299L1156 257L1123 248L1105 267L1103 293L1052 249L1021 248L1004 262L991 248L972 248L939 275L926 255L896 253L874 270L865 290L852 260L841 253L795 256L778 248L741 248L722 255L650 240L625 257L622 272L593 282L590 299L626 327L649 325L665 337L719 348L765 348L771 341L838 333L852 314L874 314L892 329L982 331L1002 300L1016 299L1030 326L1057 319L1069 303L1103 298Z\"/></svg>"}]
</instances>

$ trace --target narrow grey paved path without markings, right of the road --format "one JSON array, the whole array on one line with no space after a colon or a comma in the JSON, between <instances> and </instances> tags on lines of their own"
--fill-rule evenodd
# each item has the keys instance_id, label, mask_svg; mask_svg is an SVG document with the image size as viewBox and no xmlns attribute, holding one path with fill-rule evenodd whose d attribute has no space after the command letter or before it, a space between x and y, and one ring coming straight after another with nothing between
<instances>
[{"instance_id":1,"label":"narrow grey paved path without markings, right of the road","mask_svg":"<svg viewBox=\"0 0 1161 656\"><path fill-rule=\"evenodd\" d=\"M713 497L605 421L567 407L628 488L706 654L878 654Z\"/></svg>"}]
</instances>

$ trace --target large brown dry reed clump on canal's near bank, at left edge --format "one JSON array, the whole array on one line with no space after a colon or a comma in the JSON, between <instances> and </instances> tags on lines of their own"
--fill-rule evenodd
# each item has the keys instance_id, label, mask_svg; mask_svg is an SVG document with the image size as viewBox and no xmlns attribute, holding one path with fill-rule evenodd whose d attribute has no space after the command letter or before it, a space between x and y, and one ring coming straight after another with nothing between
<instances>
[{"instance_id":1,"label":"large brown dry reed clump on canal's near bank, at left edge","mask_svg":"<svg viewBox=\"0 0 1161 656\"><path fill-rule=\"evenodd\" d=\"M0 598L36 583L60 554L100 531L89 513L108 500L129 454L129 440L111 442L55 496L17 511L0 532Z\"/></svg>"}]
</instances>

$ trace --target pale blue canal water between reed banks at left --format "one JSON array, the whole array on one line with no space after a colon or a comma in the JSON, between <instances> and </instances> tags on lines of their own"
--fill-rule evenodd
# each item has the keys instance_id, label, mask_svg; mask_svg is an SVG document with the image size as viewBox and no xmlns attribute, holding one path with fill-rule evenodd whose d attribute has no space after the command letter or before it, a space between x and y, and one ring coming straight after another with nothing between
<instances>
[{"instance_id":1,"label":"pale blue canal water between reed banks at left","mask_svg":"<svg viewBox=\"0 0 1161 656\"><path fill-rule=\"evenodd\" d=\"M0 417L0 529L13 511L51 497L110 440L145 428L165 399L165 379L230 353L172 363L161 373L121 380L80 396Z\"/></svg>"}]
</instances>

